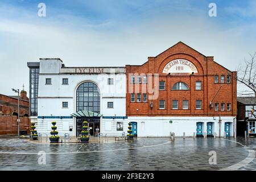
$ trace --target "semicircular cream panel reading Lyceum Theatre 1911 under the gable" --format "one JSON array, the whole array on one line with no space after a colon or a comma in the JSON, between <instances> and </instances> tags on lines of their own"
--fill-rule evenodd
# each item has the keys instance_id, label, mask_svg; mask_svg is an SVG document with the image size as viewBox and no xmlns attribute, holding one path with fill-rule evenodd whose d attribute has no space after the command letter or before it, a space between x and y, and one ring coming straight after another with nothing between
<instances>
[{"instance_id":1,"label":"semicircular cream panel reading Lyceum Theatre 1911 under the gable","mask_svg":"<svg viewBox=\"0 0 256 182\"><path fill-rule=\"evenodd\" d=\"M170 61L163 69L163 73L197 73L196 66L185 59Z\"/></svg>"}]
</instances>

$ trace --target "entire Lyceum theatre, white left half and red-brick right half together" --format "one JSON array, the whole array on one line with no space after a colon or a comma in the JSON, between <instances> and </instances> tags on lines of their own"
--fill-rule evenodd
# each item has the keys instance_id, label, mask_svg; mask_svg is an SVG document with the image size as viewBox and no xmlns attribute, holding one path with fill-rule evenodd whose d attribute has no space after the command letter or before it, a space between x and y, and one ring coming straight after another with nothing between
<instances>
[{"instance_id":1,"label":"entire Lyceum theatre, white left half and red-brick right half together","mask_svg":"<svg viewBox=\"0 0 256 182\"><path fill-rule=\"evenodd\" d=\"M143 62L142 62L143 63ZM137 137L232 137L237 113L236 72L184 43L177 43L142 65L66 67L60 59L28 62L30 118L38 133Z\"/></svg>"}]
</instances>

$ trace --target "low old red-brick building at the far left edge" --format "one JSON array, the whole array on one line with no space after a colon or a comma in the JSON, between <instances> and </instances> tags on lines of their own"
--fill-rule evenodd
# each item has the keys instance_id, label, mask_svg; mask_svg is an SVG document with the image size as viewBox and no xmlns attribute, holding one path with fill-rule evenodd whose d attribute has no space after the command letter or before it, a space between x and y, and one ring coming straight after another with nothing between
<instances>
[{"instance_id":1,"label":"low old red-brick building at the far left edge","mask_svg":"<svg viewBox=\"0 0 256 182\"><path fill-rule=\"evenodd\" d=\"M29 100L25 91L20 92L20 131L29 133ZM18 134L18 98L0 94L0 135Z\"/></svg>"}]
</instances>

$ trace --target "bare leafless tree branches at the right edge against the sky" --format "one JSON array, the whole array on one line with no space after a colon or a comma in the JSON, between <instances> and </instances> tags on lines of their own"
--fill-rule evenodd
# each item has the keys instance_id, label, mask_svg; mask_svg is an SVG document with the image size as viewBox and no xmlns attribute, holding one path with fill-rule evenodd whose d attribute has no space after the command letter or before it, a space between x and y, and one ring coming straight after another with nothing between
<instances>
[{"instance_id":1,"label":"bare leafless tree branches at the right edge against the sky","mask_svg":"<svg viewBox=\"0 0 256 182\"><path fill-rule=\"evenodd\" d=\"M256 52L250 54L250 60L245 59L244 63L238 66L237 81L249 88L238 94L256 97Z\"/></svg>"}]
</instances>

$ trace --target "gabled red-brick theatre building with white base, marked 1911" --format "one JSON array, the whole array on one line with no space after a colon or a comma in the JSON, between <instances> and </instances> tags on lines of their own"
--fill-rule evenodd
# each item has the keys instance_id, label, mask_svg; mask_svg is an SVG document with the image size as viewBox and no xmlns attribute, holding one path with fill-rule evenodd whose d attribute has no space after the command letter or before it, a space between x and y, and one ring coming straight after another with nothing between
<instances>
[{"instance_id":1,"label":"gabled red-brick theatre building with white base, marked 1911","mask_svg":"<svg viewBox=\"0 0 256 182\"><path fill-rule=\"evenodd\" d=\"M179 42L142 65L126 65L126 77L126 115L138 137L234 135L236 72L213 56Z\"/></svg>"}]
</instances>

